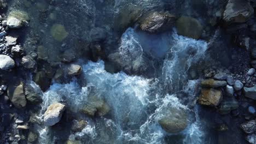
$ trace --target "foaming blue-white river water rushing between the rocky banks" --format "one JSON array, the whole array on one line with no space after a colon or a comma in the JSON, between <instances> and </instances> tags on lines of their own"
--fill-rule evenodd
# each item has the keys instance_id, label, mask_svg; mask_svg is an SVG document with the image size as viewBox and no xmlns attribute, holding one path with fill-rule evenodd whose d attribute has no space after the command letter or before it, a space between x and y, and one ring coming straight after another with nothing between
<instances>
[{"instance_id":1,"label":"foaming blue-white river water rushing between the rocky banks","mask_svg":"<svg viewBox=\"0 0 256 144\"><path fill-rule=\"evenodd\" d=\"M47 9L48 3L43 0L34 3L28 0L12 1L14 9L30 11L31 33L27 37L31 37L33 32L39 34L37 46L31 46L25 40L28 45L26 51L36 51L49 63L60 62L59 56L69 49L81 57L84 52L81 50L91 42L86 37L90 30L104 27L108 29L110 39L104 43L106 49L118 51L127 69L138 65L142 75L126 74L125 69L109 73L101 59L97 62L80 59L78 63L83 65L82 76L73 77L69 83L53 82L43 93L43 103L35 117L42 121L47 107L60 102L67 106L66 119L71 115L85 119L88 125L82 131L73 133L68 123L62 123L60 131L42 123L35 124L33 129L39 133L39 143L63 143L63 140L78 140L80 143L206 143L205 127L198 114L200 107L195 103L200 77L191 78L190 75L196 73L194 68L200 67L203 62L207 42L182 37L176 29L150 35L136 26L129 27L131 20L143 11L164 9L182 2L75 0L65 4L56 0ZM56 42L49 37L54 23L65 26L68 32L65 41ZM37 87L34 82L31 85ZM106 116L91 118L81 113L92 96L109 105L110 112ZM181 133L166 133L159 124L164 116L177 114L170 112L170 109L188 113L187 128Z\"/></svg>"}]
</instances>

